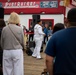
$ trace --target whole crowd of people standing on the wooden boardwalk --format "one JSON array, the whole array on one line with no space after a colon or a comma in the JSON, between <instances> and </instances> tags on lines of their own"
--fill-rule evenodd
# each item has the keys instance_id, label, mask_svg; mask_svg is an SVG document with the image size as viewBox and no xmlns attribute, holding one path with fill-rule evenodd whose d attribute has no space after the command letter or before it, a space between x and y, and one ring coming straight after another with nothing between
<instances>
[{"instance_id":1,"label":"whole crowd of people standing on the wooden boardwalk","mask_svg":"<svg viewBox=\"0 0 76 75\"><path fill-rule=\"evenodd\" d=\"M29 35L27 32L33 34ZM23 49L26 40L35 41L32 57L42 59L40 54L42 43L46 44L46 69L49 75L76 75L76 8L69 10L66 27L63 23L57 23L53 29L48 24L42 27L42 21L29 30L20 26L20 18L16 12L12 12L8 19L8 25L0 20L0 71L3 75L24 75ZM49 38L49 36L51 36ZM32 39L31 39L32 38ZM2 75L2 74L0 74Z\"/></svg>"}]
</instances>

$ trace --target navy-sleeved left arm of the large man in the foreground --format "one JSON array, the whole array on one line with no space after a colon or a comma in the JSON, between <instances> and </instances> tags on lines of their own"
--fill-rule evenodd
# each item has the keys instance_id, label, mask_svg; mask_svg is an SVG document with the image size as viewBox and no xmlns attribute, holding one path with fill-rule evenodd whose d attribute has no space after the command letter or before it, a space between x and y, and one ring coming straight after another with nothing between
<instances>
[{"instance_id":1,"label":"navy-sleeved left arm of the large man in the foreground","mask_svg":"<svg viewBox=\"0 0 76 75\"><path fill-rule=\"evenodd\" d=\"M48 41L48 44L45 49L46 53L46 67L50 75L53 75L53 60L56 56L56 50L55 50L55 36L52 36L50 40Z\"/></svg>"}]
</instances>

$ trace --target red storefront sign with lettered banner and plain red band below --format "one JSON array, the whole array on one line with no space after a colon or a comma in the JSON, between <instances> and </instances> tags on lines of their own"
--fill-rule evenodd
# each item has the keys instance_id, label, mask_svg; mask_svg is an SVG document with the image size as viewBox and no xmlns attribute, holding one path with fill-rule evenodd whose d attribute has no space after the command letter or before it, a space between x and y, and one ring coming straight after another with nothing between
<instances>
[{"instance_id":1,"label":"red storefront sign with lettered banner and plain red band below","mask_svg":"<svg viewBox=\"0 0 76 75\"><path fill-rule=\"evenodd\" d=\"M4 13L10 14L11 12L17 12L18 14L62 14L64 13L64 7L59 6L61 0L0 0ZM56 1L56 2L55 2ZM54 5L54 6L53 6ZM54 9L53 9L54 8Z\"/></svg>"}]
</instances>

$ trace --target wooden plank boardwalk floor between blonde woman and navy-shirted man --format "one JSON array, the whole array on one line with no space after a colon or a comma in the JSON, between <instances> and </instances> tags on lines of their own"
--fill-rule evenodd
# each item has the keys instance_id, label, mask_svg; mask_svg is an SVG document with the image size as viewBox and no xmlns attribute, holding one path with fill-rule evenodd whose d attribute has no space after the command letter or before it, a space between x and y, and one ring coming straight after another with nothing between
<instances>
[{"instance_id":1,"label":"wooden plank boardwalk floor between blonde woman and navy-shirted man","mask_svg":"<svg viewBox=\"0 0 76 75\"><path fill-rule=\"evenodd\" d=\"M41 75L45 68L45 54L41 53L42 58L38 60L24 53L24 74L25 75Z\"/></svg>"}]
</instances>

